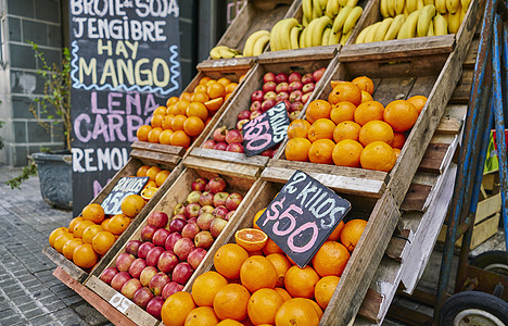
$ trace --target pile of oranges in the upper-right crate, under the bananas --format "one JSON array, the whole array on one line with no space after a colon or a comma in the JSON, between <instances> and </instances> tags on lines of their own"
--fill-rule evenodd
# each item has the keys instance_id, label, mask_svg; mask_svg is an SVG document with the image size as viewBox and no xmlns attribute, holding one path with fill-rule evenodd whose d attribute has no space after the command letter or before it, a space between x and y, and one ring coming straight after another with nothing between
<instances>
[{"instance_id":1,"label":"pile of oranges in the upper-right crate, under the bananas","mask_svg":"<svg viewBox=\"0 0 508 326\"><path fill-rule=\"evenodd\" d=\"M395 100L384 108L373 100L369 77L331 85L328 101L310 102L305 120L290 124L285 159L390 172L427 98Z\"/></svg>"}]
</instances>

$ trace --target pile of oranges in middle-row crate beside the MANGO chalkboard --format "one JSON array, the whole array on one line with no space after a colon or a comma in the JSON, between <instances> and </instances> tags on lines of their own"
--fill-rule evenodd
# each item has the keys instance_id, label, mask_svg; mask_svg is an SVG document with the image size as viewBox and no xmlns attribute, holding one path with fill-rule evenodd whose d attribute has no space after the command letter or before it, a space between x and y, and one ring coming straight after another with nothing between
<instances>
[{"instance_id":1,"label":"pile of oranges in middle-row crate beside the MANGO chalkboard","mask_svg":"<svg viewBox=\"0 0 508 326\"><path fill-rule=\"evenodd\" d=\"M172 97L166 106L155 109L150 125L137 130L138 140L189 148L237 86L226 77L201 78L192 92Z\"/></svg>"}]
</instances>

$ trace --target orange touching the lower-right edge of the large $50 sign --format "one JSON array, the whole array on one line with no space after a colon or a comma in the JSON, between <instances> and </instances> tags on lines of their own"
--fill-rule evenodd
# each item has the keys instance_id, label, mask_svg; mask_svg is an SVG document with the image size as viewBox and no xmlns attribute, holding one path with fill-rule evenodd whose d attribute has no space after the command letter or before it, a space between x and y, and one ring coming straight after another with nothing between
<instances>
[{"instance_id":1,"label":"orange touching the lower-right edge of the large $50 sign","mask_svg":"<svg viewBox=\"0 0 508 326\"><path fill-rule=\"evenodd\" d=\"M314 269L319 276L341 276L350 260L347 249L336 241L326 241L313 258Z\"/></svg>"}]
</instances>

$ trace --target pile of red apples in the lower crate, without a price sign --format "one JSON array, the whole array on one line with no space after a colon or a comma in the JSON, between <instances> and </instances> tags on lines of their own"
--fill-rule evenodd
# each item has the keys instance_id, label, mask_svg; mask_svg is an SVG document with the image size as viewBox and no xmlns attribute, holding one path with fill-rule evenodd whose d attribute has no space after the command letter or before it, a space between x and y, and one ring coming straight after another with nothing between
<instances>
[{"instance_id":1,"label":"pile of red apples in the lower crate, without a price sign","mask_svg":"<svg viewBox=\"0 0 508 326\"><path fill-rule=\"evenodd\" d=\"M243 200L227 187L220 177L198 178L170 220L164 212L147 217L140 240L128 241L100 279L161 319L166 298L183 289Z\"/></svg>"}]
</instances>

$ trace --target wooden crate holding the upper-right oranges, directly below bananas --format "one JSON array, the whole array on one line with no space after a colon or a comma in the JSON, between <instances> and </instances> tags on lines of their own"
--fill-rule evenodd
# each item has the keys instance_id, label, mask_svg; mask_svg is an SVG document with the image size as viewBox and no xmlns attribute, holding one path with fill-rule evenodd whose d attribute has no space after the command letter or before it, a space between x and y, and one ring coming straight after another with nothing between
<instances>
[{"instance_id":1,"label":"wooden crate holding the upper-right oranges, directly below bananas","mask_svg":"<svg viewBox=\"0 0 508 326\"><path fill-rule=\"evenodd\" d=\"M408 54L410 55L410 54ZM327 100L332 88L330 80L352 80L367 75L374 83L373 99L386 105L395 99L411 96L428 97L426 106L407 136L401 155L390 173L335 165L292 162L285 160L285 145L268 163L263 177L287 180L295 168L309 173L326 186L342 192L380 198L390 180L401 183L412 177L429 141L443 115L455 84L460 76L459 57L441 54L432 57L385 58L369 62L340 62L325 84L319 99ZM406 173L406 171L408 173ZM396 188L394 188L396 190ZM398 192L401 203L404 193ZM401 198L402 197L402 198Z\"/></svg>"}]
</instances>

